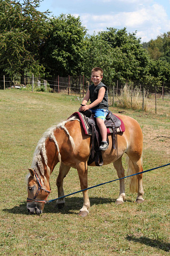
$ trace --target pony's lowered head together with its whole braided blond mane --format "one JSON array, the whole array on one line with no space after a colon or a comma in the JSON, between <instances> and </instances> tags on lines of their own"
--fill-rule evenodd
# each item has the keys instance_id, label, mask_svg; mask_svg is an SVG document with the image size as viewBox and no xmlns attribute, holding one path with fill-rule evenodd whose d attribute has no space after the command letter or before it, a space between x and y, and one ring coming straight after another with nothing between
<instances>
[{"instance_id":1,"label":"pony's lowered head together with its whole braided blond mane","mask_svg":"<svg viewBox=\"0 0 170 256\"><path fill-rule=\"evenodd\" d=\"M74 120L71 118L69 120ZM59 146L54 135L57 128L62 128L65 130L69 136L73 150L75 148L73 138L69 135L68 130L64 126L69 120L59 123L58 125L52 126L39 140L38 145L34 151L33 163L31 168L29 168L29 174L27 176L27 210L30 214L41 214L46 203L47 197L50 193L49 177L53 171L57 162L61 164L61 155L59 151ZM53 147L49 146L49 143L53 141ZM56 149L57 153L56 153ZM54 150L52 150L53 148ZM50 152L53 151L53 152ZM47 158L48 155L48 158ZM48 164L50 168L48 167Z\"/></svg>"}]
</instances>

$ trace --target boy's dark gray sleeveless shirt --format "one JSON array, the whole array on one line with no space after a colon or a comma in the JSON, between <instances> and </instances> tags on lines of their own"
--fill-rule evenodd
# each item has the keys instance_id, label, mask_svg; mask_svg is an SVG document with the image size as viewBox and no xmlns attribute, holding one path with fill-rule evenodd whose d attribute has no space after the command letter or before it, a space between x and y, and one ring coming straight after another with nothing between
<instances>
[{"instance_id":1,"label":"boy's dark gray sleeveless shirt","mask_svg":"<svg viewBox=\"0 0 170 256\"><path fill-rule=\"evenodd\" d=\"M97 106L91 108L91 109L104 109L104 110L109 109L107 86L104 85L102 82L100 82L99 85L96 85L96 86L94 86L94 84L89 86L91 103L98 98L98 93L99 93L99 90L100 90L101 87L105 88L105 94L104 94L104 97L102 99L102 102L99 103Z\"/></svg>"}]
</instances>

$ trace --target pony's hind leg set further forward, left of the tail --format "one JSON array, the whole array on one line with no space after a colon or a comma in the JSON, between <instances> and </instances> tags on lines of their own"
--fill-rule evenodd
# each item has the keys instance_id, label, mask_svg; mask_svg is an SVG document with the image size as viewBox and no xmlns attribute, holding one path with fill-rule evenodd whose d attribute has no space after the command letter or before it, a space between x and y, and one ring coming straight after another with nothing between
<instances>
[{"instance_id":1,"label":"pony's hind leg set further forward, left of the tail","mask_svg":"<svg viewBox=\"0 0 170 256\"><path fill-rule=\"evenodd\" d=\"M113 162L113 166L117 171L117 175L119 179L125 177L125 170L122 165L122 157L120 157L115 162ZM123 204L125 201L125 180L124 179L119 180L119 185L120 185L119 197L115 202L117 205Z\"/></svg>"}]
</instances>

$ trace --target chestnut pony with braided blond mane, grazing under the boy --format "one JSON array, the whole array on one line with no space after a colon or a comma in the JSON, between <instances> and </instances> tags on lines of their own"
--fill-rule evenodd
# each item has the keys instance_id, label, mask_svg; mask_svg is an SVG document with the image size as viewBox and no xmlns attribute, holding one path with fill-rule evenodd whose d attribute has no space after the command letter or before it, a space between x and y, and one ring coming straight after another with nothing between
<instances>
[{"instance_id":1,"label":"chestnut pony with braided blond mane, grazing under the boy","mask_svg":"<svg viewBox=\"0 0 170 256\"><path fill-rule=\"evenodd\" d=\"M128 175L143 171L142 168L142 146L143 135L141 128L131 117L117 115L125 124L125 132L117 135L117 150L112 147L112 136L108 135L109 147L102 152L103 165L113 162L119 178L125 177L122 165L122 156L127 155ZM58 197L64 196L63 179L69 169L75 168L79 174L81 189L88 188L88 159L91 151L91 136L84 134L81 123L77 117L71 117L49 128L39 140L34 152L32 167L27 176L28 198L27 210L30 214L41 214L51 191L49 178L57 163L60 163L57 176ZM93 162L91 166L94 166ZM102 168L102 167L101 167ZM137 192L137 203L142 203L143 187L142 174L131 177L130 190ZM120 193L116 204L125 201L125 181L120 181ZM57 200L57 207L65 205L64 198ZM85 217L89 213L90 200L88 190L83 191L83 206L79 215Z\"/></svg>"}]
</instances>

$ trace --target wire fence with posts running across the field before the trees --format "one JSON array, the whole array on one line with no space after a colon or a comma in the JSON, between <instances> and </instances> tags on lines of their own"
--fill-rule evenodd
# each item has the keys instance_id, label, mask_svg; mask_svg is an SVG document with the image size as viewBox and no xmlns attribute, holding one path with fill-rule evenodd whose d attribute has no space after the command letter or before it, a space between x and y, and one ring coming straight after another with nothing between
<instances>
[{"instance_id":1,"label":"wire fence with posts running across the field before the trees","mask_svg":"<svg viewBox=\"0 0 170 256\"><path fill-rule=\"evenodd\" d=\"M41 77L25 76L23 83L20 80L14 80L10 77L0 76L0 89L25 89L34 91L48 91L59 94L73 95L79 100L84 98L91 84L91 78L84 75L61 77ZM107 85L109 95L109 105L122 107L125 109L147 110L149 99L155 102L155 112L158 110L158 100L170 93L170 84L162 86L152 85L152 92L149 92L148 85L141 84L139 81L123 83L115 80L112 84ZM153 90L155 92L153 92ZM168 95L169 97L169 95ZM149 103L150 104L150 103ZM151 104L150 104L151 105Z\"/></svg>"}]
</instances>

